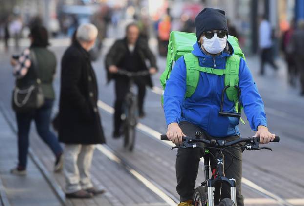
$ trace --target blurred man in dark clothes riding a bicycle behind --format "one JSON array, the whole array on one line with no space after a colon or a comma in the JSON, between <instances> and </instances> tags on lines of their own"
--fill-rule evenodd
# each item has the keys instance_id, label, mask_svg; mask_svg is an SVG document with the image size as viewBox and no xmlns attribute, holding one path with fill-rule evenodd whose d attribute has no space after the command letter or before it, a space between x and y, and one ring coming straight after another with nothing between
<instances>
[{"instance_id":1,"label":"blurred man in dark clothes riding a bicycle behind","mask_svg":"<svg viewBox=\"0 0 304 206\"><path fill-rule=\"evenodd\" d=\"M108 81L115 79L115 114L114 114L114 132L113 137L120 136L122 124L122 103L125 95L128 93L130 79L127 76L118 75L118 69L124 69L129 72L138 72L148 70L146 60L149 60L149 73L153 75L157 72L156 58L149 49L147 41L139 38L140 30L135 23L126 27L126 37L116 40L106 56L106 69ZM151 76L138 77L135 84L138 86L138 110L139 117L145 115L143 110L144 98L146 94L146 85L152 87Z\"/></svg>"}]
</instances>

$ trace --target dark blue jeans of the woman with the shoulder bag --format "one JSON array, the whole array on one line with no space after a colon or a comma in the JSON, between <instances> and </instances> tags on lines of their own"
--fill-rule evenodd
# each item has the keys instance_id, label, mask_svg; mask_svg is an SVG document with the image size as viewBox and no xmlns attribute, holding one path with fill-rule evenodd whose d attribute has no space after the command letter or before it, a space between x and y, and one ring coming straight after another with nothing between
<instances>
[{"instance_id":1,"label":"dark blue jeans of the woman with the shoulder bag","mask_svg":"<svg viewBox=\"0 0 304 206\"><path fill-rule=\"evenodd\" d=\"M43 141L49 146L55 156L62 153L57 137L50 131L50 118L53 100L45 99L43 107L31 112L16 113L18 126L18 166L26 168L29 146L29 131L32 120L35 121L36 130Z\"/></svg>"}]
</instances>

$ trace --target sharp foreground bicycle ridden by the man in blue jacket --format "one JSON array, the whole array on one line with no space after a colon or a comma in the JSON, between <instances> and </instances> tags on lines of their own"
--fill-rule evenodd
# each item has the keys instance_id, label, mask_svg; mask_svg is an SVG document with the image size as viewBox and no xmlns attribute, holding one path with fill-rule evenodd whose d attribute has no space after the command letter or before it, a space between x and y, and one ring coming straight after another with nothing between
<instances>
[{"instance_id":1,"label":"sharp foreground bicycle ridden by the man in blue jacket","mask_svg":"<svg viewBox=\"0 0 304 206\"><path fill-rule=\"evenodd\" d=\"M180 146L176 146L173 148L203 148L205 149L204 153L204 174L205 181L202 182L201 186L196 187L194 195L193 195L193 203L194 206L237 206L237 197L236 197L236 181L235 179L228 179L225 177L225 169L224 169L224 153L228 147L241 147L247 150L261 150L268 149L268 147L260 147L259 140L260 137L247 137L247 138L239 138L234 141L226 142L226 140L206 140L200 139L201 132L196 132L195 137L183 137L183 143ZM161 135L161 140L169 140L167 135ZM276 136L273 142L279 142L280 137ZM237 145L238 143L245 143L243 146ZM204 146L200 144L204 143ZM173 149L172 148L172 149ZM210 155L209 150L211 148L217 149L216 155ZM229 153L229 151L225 150ZM217 163L217 168L213 171L212 177L209 177L209 157L213 157L215 162ZM233 160L233 155L231 155ZM220 200L220 188L221 184L228 184L230 186L230 198L224 198ZM214 187L217 189L214 191Z\"/></svg>"}]
</instances>

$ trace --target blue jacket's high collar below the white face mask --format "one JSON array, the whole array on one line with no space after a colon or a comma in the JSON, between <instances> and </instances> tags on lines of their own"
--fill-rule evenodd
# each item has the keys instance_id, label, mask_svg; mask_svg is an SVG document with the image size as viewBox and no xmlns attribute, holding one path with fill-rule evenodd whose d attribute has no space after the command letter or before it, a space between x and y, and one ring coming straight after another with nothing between
<instances>
[{"instance_id":1,"label":"blue jacket's high collar below the white face mask","mask_svg":"<svg viewBox=\"0 0 304 206\"><path fill-rule=\"evenodd\" d=\"M228 41L226 48L219 56L205 54L198 42L193 45L193 49L192 54L198 57L199 65L201 67L210 67L215 69L225 69L227 57L232 56L234 53L234 50Z\"/></svg>"}]
</instances>

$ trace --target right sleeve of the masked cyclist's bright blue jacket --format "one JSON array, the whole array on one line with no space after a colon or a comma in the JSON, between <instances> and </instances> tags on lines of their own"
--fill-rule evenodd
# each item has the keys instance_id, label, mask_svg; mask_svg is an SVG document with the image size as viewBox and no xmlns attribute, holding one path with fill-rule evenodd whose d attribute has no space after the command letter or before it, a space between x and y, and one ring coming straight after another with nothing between
<instances>
[{"instance_id":1,"label":"right sleeve of the masked cyclist's bright blue jacket","mask_svg":"<svg viewBox=\"0 0 304 206\"><path fill-rule=\"evenodd\" d=\"M248 66L242 58L239 67L240 101L244 107L250 127L252 130L257 130L259 125L267 127L263 100Z\"/></svg>"}]
</instances>

